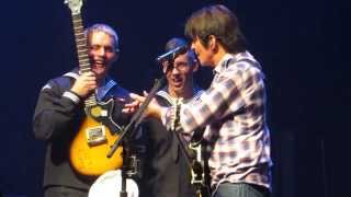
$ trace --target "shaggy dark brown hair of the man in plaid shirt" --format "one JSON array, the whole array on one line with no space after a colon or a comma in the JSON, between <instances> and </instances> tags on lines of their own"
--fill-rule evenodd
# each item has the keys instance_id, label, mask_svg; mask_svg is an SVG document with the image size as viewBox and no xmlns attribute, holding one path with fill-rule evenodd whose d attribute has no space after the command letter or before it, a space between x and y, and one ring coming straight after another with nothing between
<instances>
[{"instance_id":1,"label":"shaggy dark brown hair of the man in plaid shirt","mask_svg":"<svg viewBox=\"0 0 351 197\"><path fill-rule=\"evenodd\" d=\"M246 50L246 40L236 15L223 4L204 7L186 21L184 34L190 39L199 37L207 47L208 36L214 35L228 53Z\"/></svg>"}]
</instances>

